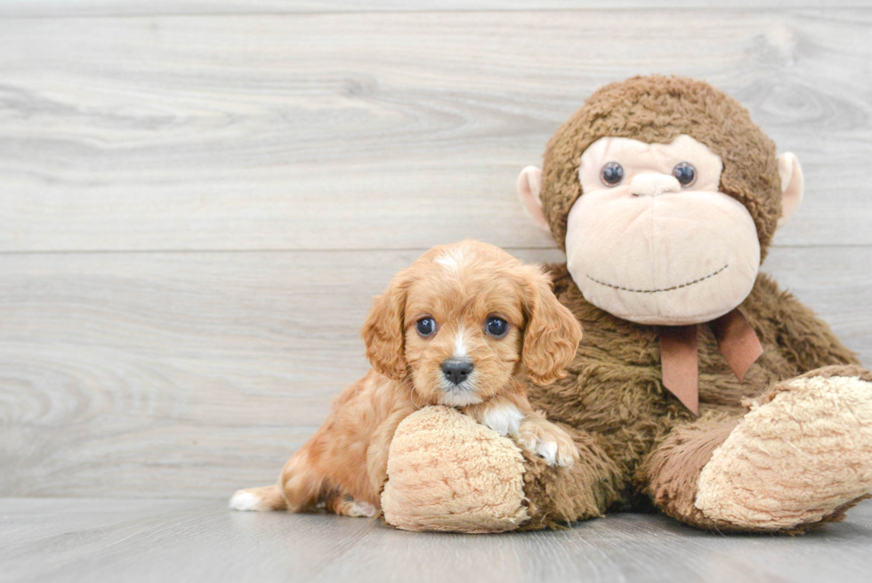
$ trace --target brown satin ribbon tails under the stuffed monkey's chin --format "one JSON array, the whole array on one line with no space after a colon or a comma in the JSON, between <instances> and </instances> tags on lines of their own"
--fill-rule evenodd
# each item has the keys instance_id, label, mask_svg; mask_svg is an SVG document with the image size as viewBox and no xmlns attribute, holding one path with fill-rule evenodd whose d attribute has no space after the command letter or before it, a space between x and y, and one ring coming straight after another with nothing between
<instances>
[{"instance_id":1,"label":"brown satin ribbon tails under the stuffed monkey's chin","mask_svg":"<svg viewBox=\"0 0 872 583\"><path fill-rule=\"evenodd\" d=\"M723 358L741 383L747 369L763 354L760 339L738 308L708 322L708 325L715 333ZM663 385L694 415L699 415L698 326L660 327Z\"/></svg>"}]
</instances>

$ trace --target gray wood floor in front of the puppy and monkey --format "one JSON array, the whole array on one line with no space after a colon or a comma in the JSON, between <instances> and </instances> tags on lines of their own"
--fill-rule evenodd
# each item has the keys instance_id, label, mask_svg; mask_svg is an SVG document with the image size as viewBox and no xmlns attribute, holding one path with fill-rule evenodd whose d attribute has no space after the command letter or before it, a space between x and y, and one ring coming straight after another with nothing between
<instances>
[{"instance_id":1,"label":"gray wood floor in front of the puppy and monkey","mask_svg":"<svg viewBox=\"0 0 872 583\"><path fill-rule=\"evenodd\" d=\"M568 530L404 532L223 502L0 499L0 581L868 581L872 503L826 530L722 536L615 514Z\"/></svg>"}]
</instances>

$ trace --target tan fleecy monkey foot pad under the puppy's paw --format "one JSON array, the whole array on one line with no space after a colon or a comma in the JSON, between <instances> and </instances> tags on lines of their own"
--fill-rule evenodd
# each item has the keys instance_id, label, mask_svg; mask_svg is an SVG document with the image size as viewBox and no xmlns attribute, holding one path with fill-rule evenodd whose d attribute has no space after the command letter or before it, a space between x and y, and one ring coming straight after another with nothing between
<instances>
[{"instance_id":1,"label":"tan fleecy monkey foot pad under the puppy's paw","mask_svg":"<svg viewBox=\"0 0 872 583\"><path fill-rule=\"evenodd\" d=\"M472 417L416 411L391 443L384 519L403 530L514 530L528 520L523 462L513 441Z\"/></svg>"}]
</instances>

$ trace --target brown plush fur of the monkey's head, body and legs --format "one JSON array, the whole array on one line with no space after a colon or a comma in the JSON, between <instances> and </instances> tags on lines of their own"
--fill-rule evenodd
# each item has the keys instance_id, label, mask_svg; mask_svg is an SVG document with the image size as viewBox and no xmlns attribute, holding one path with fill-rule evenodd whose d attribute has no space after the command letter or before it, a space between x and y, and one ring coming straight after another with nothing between
<instances>
[{"instance_id":1,"label":"brown plush fur of the monkey's head, body and legs","mask_svg":"<svg viewBox=\"0 0 872 583\"><path fill-rule=\"evenodd\" d=\"M679 134L689 134L722 158L721 190L747 206L765 256L781 212L775 146L737 101L704 82L677 77L606 85L553 135L541 198L558 244L564 243L569 208L583 196L579 158L592 142L618 136L668 143ZM577 430L572 434L581 463L569 473L556 473L528 460L528 528L639 506L640 495L647 494L655 506L684 522L753 531L715 525L693 506L702 467L744 414L743 401L820 367L856 364L852 352L811 310L761 274L739 309L760 338L763 355L739 383L711 330L700 327L696 419L662 385L657 327L620 320L587 303L565 265L553 266L553 278L561 303L585 329L585 342L567 368L569 375L553 385L531 385L529 399L550 419ZM859 367L850 370L868 375ZM824 521L840 520L854 503Z\"/></svg>"}]
</instances>

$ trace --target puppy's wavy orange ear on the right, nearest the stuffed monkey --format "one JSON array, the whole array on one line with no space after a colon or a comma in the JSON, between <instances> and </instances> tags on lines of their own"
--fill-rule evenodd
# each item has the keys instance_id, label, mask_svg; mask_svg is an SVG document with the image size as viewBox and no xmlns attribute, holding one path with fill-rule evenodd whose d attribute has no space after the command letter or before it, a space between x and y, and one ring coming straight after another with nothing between
<instances>
[{"instance_id":1,"label":"puppy's wavy orange ear on the right, nearest the stuffed monkey","mask_svg":"<svg viewBox=\"0 0 872 583\"><path fill-rule=\"evenodd\" d=\"M566 377L565 368L575 358L581 341L581 325L569 309L557 301L551 280L529 266L527 273L527 329L523 360L527 376L537 385Z\"/></svg>"}]
</instances>

